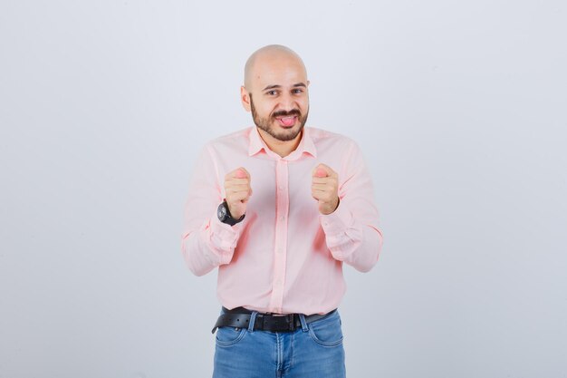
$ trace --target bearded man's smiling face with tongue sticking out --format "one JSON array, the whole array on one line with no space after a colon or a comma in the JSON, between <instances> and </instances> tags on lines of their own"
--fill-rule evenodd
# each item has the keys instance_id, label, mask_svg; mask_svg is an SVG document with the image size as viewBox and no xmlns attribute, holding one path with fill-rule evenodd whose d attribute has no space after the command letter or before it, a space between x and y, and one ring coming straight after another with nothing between
<instances>
[{"instance_id":1,"label":"bearded man's smiling face with tongue sticking out","mask_svg":"<svg viewBox=\"0 0 567 378\"><path fill-rule=\"evenodd\" d=\"M293 57L264 58L255 64L250 111L256 126L278 141L293 141L309 114L303 63Z\"/></svg>"}]
</instances>

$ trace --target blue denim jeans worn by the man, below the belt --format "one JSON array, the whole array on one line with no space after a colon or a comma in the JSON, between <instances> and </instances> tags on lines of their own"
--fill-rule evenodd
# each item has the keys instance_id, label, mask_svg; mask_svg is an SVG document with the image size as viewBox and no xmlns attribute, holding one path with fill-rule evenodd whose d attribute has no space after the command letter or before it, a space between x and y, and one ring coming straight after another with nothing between
<instances>
[{"instance_id":1,"label":"blue denim jeans worn by the man, below the belt","mask_svg":"<svg viewBox=\"0 0 567 378\"><path fill-rule=\"evenodd\" d=\"M344 378L341 316L338 311L295 332L248 328L216 330L213 378Z\"/></svg>"}]
</instances>

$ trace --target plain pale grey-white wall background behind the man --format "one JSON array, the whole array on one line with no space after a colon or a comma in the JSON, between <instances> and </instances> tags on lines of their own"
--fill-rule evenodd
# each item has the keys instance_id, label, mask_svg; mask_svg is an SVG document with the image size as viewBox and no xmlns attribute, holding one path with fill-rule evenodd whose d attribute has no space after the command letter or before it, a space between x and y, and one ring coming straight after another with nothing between
<instances>
[{"instance_id":1,"label":"plain pale grey-white wall background behind the man","mask_svg":"<svg viewBox=\"0 0 567 378\"><path fill-rule=\"evenodd\" d=\"M376 186L349 376L567 377L566 35L564 1L2 0L0 377L210 376L183 205L264 44Z\"/></svg>"}]
</instances>

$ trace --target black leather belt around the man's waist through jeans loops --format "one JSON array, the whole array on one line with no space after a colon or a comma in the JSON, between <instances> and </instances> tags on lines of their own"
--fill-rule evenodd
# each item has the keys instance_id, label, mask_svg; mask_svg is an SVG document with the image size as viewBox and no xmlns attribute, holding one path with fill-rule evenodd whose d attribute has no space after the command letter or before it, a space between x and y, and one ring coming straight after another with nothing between
<instances>
[{"instance_id":1,"label":"black leather belt around the man's waist through jeans loops","mask_svg":"<svg viewBox=\"0 0 567 378\"><path fill-rule=\"evenodd\" d=\"M252 317L252 311L245 309L244 307L236 307L232 310L228 310L223 307L223 310L225 314L218 316L215 327L212 331L213 334L218 327L248 328L250 318ZM335 311L337 310L335 309L322 315L305 315L305 323L310 324L315 320L320 320L323 317L331 315ZM254 329L259 331L293 332L301 327L302 321L299 314L276 315L258 313L254 322Z\"/></svg>"}]
</instances>

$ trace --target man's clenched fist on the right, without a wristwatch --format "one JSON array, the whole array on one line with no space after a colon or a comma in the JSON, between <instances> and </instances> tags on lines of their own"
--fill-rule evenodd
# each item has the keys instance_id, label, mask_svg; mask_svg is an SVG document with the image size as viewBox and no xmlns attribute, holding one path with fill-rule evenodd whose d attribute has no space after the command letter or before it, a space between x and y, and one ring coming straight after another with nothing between
<instances>
[{"instance_id":1,"label":"man's clenched fist on the right, without a wristwatch","mask_svg":"<svg viewBox=\"0 0 567 378\"><path fill-rule=\"evenodd\" d=\"M331 214L339 206L339 175L324 164L313 170L311 195L319 201L319 212Z\"/></svg>"}]
</instances>

